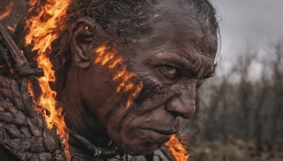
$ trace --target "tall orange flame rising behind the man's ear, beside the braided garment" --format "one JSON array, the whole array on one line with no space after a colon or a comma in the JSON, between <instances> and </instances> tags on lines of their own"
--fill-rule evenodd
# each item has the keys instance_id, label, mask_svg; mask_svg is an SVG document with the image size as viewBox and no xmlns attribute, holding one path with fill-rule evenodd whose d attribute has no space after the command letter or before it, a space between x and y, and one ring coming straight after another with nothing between
<instances>
[{"instance_id":1,"label":"tall orange flame rising behind the man's ear, beside the braided garment","mask_svg":"<svg viewBox=\"0 0 283 161\"><path fill-rule=\"evenodd\" d=\"M50 88L50 82L55 81L52 64L47 57L51 51L51 43L57 39L59 33L64 29L65 15L70 0L46 0L45 5L40 6L40 1L30 0L28 5L32 12L33 6L38 6L36 14L25 20L25 45L31 45L33 51L37 51L38 67L43 68L44 76L39 79L42 88L37 105L42 108L47 128L52 129L52 125L57 126L57 135L62 138L64 151L67 159L70 160L68 133L64 127L64 115L62 107L56 108L55 97L57 93ZM38 109L37 109L38 110Z\"/></svg>"}]
</instances>

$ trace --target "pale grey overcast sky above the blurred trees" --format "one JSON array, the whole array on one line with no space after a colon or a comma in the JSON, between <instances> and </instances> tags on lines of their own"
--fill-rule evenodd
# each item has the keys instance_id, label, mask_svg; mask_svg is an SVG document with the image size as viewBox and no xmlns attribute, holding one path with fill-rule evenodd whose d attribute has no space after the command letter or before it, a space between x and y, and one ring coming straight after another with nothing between
<instances>
[{"instance_id":1,"label":"pale grey overcast sky above the blurred trees","mask_svg":"<svg viewBox=\"0 0 283 161\"><path fill-rule=\"evenodd\" d=\"M221 64L231 64L248 45L262 55L268 47L283 40L283 0L211 0L219 16ZM225 65L224 65L225 66Z\"/></svg>"}]
</instances>

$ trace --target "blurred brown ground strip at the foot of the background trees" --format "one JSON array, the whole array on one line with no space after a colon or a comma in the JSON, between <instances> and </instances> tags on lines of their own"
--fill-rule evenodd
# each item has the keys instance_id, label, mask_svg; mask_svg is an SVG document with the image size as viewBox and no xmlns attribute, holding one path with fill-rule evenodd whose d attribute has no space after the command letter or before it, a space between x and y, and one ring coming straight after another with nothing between
<instances>
[{"instance_id":1,"label":"blurred brown ground strip at the foot of the background trees","mask_svg":"<svg viewBox=\"0 0 283 161\"><path fill-rule=\"evenodd\" d=\"M267 146L257 153L253 143L229 138L228 143L199 142L190 146L190 161L282 161L283 149ZM197 143L196 143L197 144Z\"/></svg>"}]
</instances>

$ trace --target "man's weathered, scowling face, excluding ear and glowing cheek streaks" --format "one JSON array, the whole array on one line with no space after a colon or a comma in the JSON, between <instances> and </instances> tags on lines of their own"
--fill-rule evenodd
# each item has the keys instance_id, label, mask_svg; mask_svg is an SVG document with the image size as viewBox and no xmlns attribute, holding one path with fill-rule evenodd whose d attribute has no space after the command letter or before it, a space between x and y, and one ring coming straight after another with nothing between
<instances>
[{"instance_id":1,"label":"man's weathered, scowling face, excluding ear and glowing cheek streaks","mask_svg":"<svg viewBox=\"0 0 283 161\"><path fill-rule=\"evenodd\" d=\"M93 63L80 76L83 102L125 153L153 152L180 132L182 119L195 114L197 88L214 68L217 37L188 14L156 18L146 34L118 53L137 74L134 81L144 85L129 109L129 93L115 92L119 83L109 68Z\"/></svg>"}]
</instances>

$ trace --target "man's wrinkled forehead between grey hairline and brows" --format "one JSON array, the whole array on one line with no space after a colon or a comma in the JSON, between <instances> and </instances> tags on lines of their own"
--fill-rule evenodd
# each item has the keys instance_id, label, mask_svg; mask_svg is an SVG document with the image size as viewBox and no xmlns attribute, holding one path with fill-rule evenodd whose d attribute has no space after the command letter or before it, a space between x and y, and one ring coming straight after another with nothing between
<instances>
[{"instance_id":1,"label":"man's wrinkled forehead between grey hairline and brows","mask_svg":"<svg viewBox=\"0 0 283 161\"><path fill-rule=\"evenodd\" d=\"M217 34L209 25L194 6L164 1L156 8L146 34L137 43L150 48L150 52L175 49L183 56L201 54L214 59Z\"/></svg>"}]
</instances>

